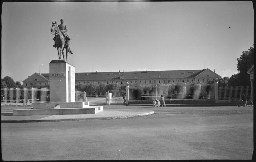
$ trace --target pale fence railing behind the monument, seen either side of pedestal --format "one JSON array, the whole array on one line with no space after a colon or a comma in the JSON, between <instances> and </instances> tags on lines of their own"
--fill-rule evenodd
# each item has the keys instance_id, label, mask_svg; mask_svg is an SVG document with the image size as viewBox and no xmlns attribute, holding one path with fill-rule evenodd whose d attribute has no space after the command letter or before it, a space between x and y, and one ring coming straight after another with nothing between
<instances>
[{"instance_id":1,"label":"pale fence railing behind the monument, seen either side of pedestal","mask_svg":"<svg viewBox=\"0 0 256 162\"><path fill-rule=\"evenodd\" d=\"M1 88L1 103L50 102L49 88ZM86 101L86 92L76 91L76 101Z\"/></svg>"}]
</instances>

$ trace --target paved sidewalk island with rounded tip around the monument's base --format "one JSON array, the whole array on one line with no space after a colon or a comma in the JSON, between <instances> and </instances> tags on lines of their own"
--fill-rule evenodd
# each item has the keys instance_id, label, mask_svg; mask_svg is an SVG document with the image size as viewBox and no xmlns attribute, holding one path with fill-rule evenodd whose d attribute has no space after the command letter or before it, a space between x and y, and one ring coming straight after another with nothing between
<instances>
[{"instance_id":1,"label":"paved sidewalk island with rounded tip around the monument's base","mask_svg":"<svg viewBox=\"0 0 256 162\"><path fill-rule=\"evenodd\" d=\"M30 115L30 116L12 116L12 113L1 113L2 123L32 123L32 122L60 122L75 120L92 120L92 119L117 119L130 118L137 116L146 116L154 114L152 110L146 109L105 109L97 114L72 114L72 115Z\"/></svg>"}]
</instances>

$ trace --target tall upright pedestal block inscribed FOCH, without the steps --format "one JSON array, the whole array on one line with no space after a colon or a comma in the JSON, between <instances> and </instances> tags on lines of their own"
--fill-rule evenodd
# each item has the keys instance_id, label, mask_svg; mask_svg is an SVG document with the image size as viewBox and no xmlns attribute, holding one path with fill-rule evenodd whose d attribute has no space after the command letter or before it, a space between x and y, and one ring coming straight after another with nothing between
<instances>
[{"instance_id":1,"label":"tall upright pedestal block inscribed FOCH, without the steps","mask_svg":"<svg viewBox=\"0 0 256 162\"><path fill-rule=\"evenodd\" d=\"M64 60L50 62L50 102L76 102L75 67Z\"/></svg>"}]
</instances>

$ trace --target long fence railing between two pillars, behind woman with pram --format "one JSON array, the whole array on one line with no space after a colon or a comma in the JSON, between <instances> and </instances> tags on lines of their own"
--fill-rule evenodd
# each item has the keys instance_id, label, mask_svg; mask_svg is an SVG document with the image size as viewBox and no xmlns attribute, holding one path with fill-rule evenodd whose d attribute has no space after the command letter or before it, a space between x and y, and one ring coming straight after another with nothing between
<instances>
[{"instance_id":1,"label":"long fence railing between two pillars, behind woman with pram","mask_svg":"<svg viewBox=\"0 0 256 162\"><path fill-rule=\"evenodd\" d=\"M129 87L129 100L159 100L163 95L169 100L214 99L214 83L180 83L135 85Z\"/></svg>"}]
</instances>

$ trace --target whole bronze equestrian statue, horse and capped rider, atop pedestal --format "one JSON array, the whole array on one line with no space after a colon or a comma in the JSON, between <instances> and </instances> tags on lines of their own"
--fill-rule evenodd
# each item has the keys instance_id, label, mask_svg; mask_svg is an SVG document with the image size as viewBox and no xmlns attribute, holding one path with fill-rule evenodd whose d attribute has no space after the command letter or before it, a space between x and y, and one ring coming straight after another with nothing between
<instances>
[{"instance_id":1,"label":"whole bronze equestrian statue, horse and capped rider, atop pedestal","mask_svg":"<svg viewBox=\"0 0 256 162\"><path fill-rule=\"evenodd\" d=\"M67 35L67 25L64 25L64 20L60 19L60 25L57 25L57 22L55 23L52 22L52 28L51 28L51 34L54 34L54 45L53 47L57 48L58 50L58 55L59 55L59 60L61 59L60 53L63 55L63 60L65 60L65 55L63 52L63 49L66 49L66 61L68 57L68 52L73 54L70 47L69 47L69 40L70 38Z\"/></svg>"}]
</instances>

